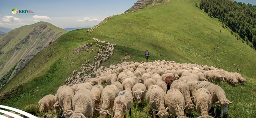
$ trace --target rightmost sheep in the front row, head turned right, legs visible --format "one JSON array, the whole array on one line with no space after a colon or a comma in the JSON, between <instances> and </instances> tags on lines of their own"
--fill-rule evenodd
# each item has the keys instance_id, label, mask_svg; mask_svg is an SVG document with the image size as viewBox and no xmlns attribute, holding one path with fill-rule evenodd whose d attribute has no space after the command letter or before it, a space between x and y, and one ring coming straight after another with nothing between
<instances>
[{"instance_id":1,"label":"rightmost sheep in the front row, head turned right, legs visible","mask_svg":"<svg viewBox=\"0 0 256 118\"><path fill-rule=\"evenodd\" d=\"M214 107L214 113L216 113L216 104L219 103L221 107L220 117L223 118L223 113L228 113L228 105L233 104L226 98L225 91L218 85L206 84L203 86L206 88L212 95L212 104Z\"/></svg>"}]
</instances>

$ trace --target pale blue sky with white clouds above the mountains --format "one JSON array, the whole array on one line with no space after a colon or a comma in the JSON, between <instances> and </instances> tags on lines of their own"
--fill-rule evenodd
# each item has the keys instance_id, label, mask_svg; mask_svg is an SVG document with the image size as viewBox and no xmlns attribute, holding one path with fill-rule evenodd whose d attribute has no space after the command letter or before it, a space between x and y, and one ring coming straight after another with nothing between
<instances>
[{"instance_id":1,"label":"pale blue sky with white clouds above the mountains","mask_svg":"<svg viewBox=\"0 0 256 118\"><path fill-rule=\"evenodd\" d=\"M121 14L137 0L2 0L0 3L0 26L19 28L39 21L60 28L91 27L108 16ZM256 5L256 0L238 0ZM34 13L12 14L12 9Z\"/></svg>"}]
</instances>

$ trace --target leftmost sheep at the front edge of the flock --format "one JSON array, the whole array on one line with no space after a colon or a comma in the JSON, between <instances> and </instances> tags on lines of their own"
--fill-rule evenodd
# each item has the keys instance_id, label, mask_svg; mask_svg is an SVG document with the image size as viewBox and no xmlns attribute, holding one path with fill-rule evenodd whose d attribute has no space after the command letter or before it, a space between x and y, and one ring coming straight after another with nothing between
<instances>
[{"instance_id":1,"label":"leftmost sheep at the front edge of the flock","mask_svg":"<svg viewBox=\"0 0 256 118\"><path fill-rule=\"evenodd\" d=\"M39 100L39 111L48 111L49 108L53 109L53 105L56 102L56 97L54 95L46 95L42 99Z\"/></svg>"}]
</instances>

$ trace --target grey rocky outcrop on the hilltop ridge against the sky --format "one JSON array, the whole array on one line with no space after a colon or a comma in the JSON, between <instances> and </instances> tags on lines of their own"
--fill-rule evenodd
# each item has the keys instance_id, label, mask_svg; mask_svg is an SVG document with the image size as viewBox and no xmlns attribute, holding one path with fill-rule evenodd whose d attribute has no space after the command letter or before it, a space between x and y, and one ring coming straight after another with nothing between
<instances>
[{"instance_id":1,"label":"grey rocky outcrop on the hilltop ridge against the sky","mask_svg":"<svg viewBox=\"0 0 256 118\"><path fill-rule=\"evenodd\" d=\"M143 9L143 8L147 7L148 5L161 4L161 3L165 3L165 2L169 2L169 1L170 0L139 0L130 9L128 9L125 12Z\"/></svg>"}]
</instances>

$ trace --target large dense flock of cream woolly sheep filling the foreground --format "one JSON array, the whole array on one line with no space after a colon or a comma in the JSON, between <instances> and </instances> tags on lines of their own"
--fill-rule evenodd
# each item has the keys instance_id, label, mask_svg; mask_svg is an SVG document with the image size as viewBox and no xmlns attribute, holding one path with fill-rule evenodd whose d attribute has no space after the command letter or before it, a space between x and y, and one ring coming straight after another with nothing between
<instances>
[{"instance_id":1,"label":"large dense flock of cream woolly sheep filling the foreground","mask_svg":"<svg viewBox=\"0 0 256 118\"><path fill-rule=\"evenodd\" d=\"M223 69L166 61L123 62L101 66L81 78L80 72L75 74L72 84L60 86L55 96L46 95L38 102L41 111L54 107L57 113L62 110L65 118L92 118L95 111L99 111L101 118L125 118L129 109L131 115L133 99L142 106L146 99L154 118L167 118L170 113L173 118L187 118L184 109L188 114L196 109L198 118L213 118L208 111L213 104L216 113L215 103L220 104L223 117L233 103L220 86L210 81L228 81L234 86L245 83L240 74Z\"/></svg>"}]
</instances>

